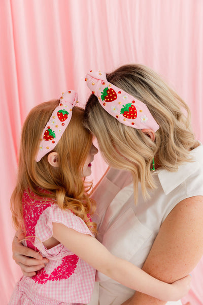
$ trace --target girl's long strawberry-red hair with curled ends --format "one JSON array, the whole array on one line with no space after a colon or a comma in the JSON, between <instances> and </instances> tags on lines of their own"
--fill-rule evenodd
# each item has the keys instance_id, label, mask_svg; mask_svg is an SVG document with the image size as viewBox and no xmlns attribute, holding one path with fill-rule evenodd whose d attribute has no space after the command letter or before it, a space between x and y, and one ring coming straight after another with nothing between
<instances>
[{"instance_id":1,"label":"girl's long strawberry-red hair with curled ends","mask_svg":"<svg viewBox=\"0 0 203 305\"><path fill-rule=\"evenodd\" d=\"M85 221L91 232L96 233L96 224L88 214L95 210L95 202L88 192L92 184L84 184L82 169L92 144L92 135L82 126L84 109L73 108L69 126L52 151L58 154L58 167L52 167L45 155L35 161L43 129L59 100L42 103L33 108L23 125L19 153L17 185L11 196L10 206L16 229L24 228L22 196L26 190L55 201L61 209L70 209Z\"/></svg>"}]
</instances>

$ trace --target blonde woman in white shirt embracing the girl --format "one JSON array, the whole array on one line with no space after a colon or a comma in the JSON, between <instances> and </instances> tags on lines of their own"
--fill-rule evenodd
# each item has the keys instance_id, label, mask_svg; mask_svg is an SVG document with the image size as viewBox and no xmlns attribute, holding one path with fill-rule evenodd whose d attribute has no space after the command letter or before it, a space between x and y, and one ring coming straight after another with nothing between
<instances>
[{"instance_id":1,"label":"blonde woman in white shirt embracing the girl","mask_svg":"<svg viewBox=\"0 0 203 305\"><path fill-rule=\"evenodd\" d=\"M85 125L96 136L106 161L117 169L107 171L93 194L99 215L98 239L113 254L171 283L187 275L203 254L202 145L191 132L188 107L152 70L126 65L107 74L107 79L99 73L97 77L87 75L95 95L87 102ZM108 106L105 97L111 88L116 92L112 92L113 99L121 95L124 105L119 104L119 97L117 104L116 98L112 107ZM133 110L133 119L123 118L125 106L130 104L126 99L139 109ZM147 106L147 115L142 115L145 108L141 109L141 103ZM125 125L131 120L129 124L135 122L136 126L137 118L143 125ZM153 120L158 127L148 125ZM16 243L13 247L14 259L24 272L32 275L41 267L39 260L21 255L37 258L37 254L20 249ZM22 266L33 263L37 266ZM97 280L99 305L165 304L99 273ZM92 304L97 300L92 299Z\"/></svg>"}]
</instances>

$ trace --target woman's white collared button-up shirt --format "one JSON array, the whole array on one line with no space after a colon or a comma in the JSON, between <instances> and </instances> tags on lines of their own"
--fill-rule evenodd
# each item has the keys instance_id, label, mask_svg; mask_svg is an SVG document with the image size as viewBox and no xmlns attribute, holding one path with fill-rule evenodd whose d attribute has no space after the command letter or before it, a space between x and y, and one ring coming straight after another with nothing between
<instances>
[{"instance_id":1,"label":"woman's white collared button-up shirt","mask_svg":"<svg viewBox=\"0 0 203 305\"><path fill-rule=\"evenodd\" d=\"M134 204L133 185L128 172L110 169L93 193L97 202L98 240L114 255L142 268L162 222L185 198L203 196L203 147L191 152L194 162L184 163L177 172L158 169L154 173L157 189L145 201L139 186ZM90 305L120 305L134 294L129 289L97 272ZM96 293L99 291L99 296ZM181 304L167 302L169 304Z\"/></svg>"}]
</instances>

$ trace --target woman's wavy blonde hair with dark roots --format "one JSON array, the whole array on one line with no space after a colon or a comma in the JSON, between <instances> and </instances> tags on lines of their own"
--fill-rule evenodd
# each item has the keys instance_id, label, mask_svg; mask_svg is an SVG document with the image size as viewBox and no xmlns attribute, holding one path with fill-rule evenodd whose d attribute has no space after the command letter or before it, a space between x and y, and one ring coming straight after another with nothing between
<instances>
[{"instance_id":1,"label":"woman's wavy blonde hair with dark roots","mask_svg":"<svg viewBox=\"0 0 203 305\"><path fill-rule=\"evenodd\" d=\"M156 187L150 171L153 157L156 165L169 171L177 171L181 163L191 161L189 150L198 143L190 127L190 110L159 75L145 66L121 66L108 73L107 80L144 102L160 126L152 141L141 130L119 123L101 107L96 96L91 95L86 104L85 127L96 136L107 163L131 172L137 202L139 181L145 198L147 189Z\"/></svg>"}]
</instances>

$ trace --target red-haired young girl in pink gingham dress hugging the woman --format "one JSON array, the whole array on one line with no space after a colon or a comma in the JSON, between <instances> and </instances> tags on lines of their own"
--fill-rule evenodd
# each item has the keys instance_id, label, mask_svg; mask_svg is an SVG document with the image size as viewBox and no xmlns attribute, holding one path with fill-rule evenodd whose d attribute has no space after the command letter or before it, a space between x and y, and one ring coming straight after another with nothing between
<instances>
[{"instance_id":1,"label":"red-haired young girl in pink gingham dress hugging the woman","mask_svg":"<svg viewBox=\"0 0 203 305\"><path fill-rule=\"evenodd\" d=\"M25 120L11 198L13 220L25 231L24 243L49 263L36 276L21 278L9 304L86 304L95 269L159 299L179 299L189 289L189 276L171 285L158 281L94 238L96 224L90 217L95 203L84 177L91 173L97 149L76 103L77 94L69 90L60 101L33 108Z\"/></svg>"}]
</instances>

